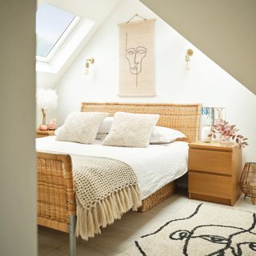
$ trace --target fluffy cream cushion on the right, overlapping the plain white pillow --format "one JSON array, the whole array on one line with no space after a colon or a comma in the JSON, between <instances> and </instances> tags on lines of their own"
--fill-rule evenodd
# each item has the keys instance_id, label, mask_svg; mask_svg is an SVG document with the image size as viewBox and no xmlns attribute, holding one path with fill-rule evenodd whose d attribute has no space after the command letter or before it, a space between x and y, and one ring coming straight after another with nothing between
<instances>
[{"instance_id":1,"label":"fluffy cream cushion on the right, overlapping the plain white pillow","mask_svg":"<svg viewBox=\"0 0 256 256\"><path fill-rule=\"evenodd\" d=\"M150 144L150 135L158 122L158 118L158 114L117 112L114 114L110 133L102 145L147 147Z\"/></svg>"}]
</instances>

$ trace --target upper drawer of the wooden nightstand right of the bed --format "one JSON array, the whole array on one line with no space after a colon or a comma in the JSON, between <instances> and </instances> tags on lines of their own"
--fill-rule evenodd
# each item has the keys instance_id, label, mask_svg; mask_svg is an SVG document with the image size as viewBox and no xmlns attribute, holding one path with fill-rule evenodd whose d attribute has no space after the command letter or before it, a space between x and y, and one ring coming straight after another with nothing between
<instances>
[{"instance_id":1,"label":"upper drawer of the wooden nightstand right of the bed","mask_svg":"<svg viewBox=\"0 0 256 256\"><path fill-rule=\"evenodd\" d=\"M232 154L225 151L190 149L189 170L231 174Z\"/></svg>"}]
</instances>

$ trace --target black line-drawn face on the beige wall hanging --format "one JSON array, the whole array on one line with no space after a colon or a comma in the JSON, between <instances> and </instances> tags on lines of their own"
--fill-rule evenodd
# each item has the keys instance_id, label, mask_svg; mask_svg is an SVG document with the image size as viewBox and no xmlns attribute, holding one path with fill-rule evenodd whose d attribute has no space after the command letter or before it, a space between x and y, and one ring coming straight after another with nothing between
<instances>
[{"instance_id":1,"label":"black line-drawn face on the beige wall hanging","mask_svg":"<svg viewBox=\"0 0 256 256\"><path fill-rule=\"evenodd\" d=\"M130 47L128 45L128 33L126 32L126 59L129 62L130 74L136 75L136 87L138 87L138 74L142 72L142 59L146 57L146 47Z\"/></svg>"}]
</instances>

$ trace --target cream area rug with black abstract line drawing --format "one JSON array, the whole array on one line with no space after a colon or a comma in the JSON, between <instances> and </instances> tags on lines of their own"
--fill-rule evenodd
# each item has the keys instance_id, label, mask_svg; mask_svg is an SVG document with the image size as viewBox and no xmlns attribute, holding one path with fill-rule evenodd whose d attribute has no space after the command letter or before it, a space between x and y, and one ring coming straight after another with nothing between
<instances>
[{"instance_id":1,"label":"cream area rug with black abstract line drawing","mask_svg":"<svg viewBox=\"0 0 256 256\"><path fill-rule=\"evenodd\" d=\"M120 255L255 256L255 215L230 206L189 202Z\"/></svg>"}]
</instances>

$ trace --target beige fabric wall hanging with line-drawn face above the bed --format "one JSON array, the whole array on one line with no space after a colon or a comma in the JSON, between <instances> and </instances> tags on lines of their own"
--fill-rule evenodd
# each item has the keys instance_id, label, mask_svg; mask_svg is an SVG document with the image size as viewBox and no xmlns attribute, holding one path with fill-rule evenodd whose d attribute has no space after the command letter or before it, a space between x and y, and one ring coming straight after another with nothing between
<instances>
[{"instance_id":1,"label":"beige fabric wall hanging with line-drawn face above the bed","mask_svg":"<svg viewBox=\"0 0 256 256\"><path fill-rule=\"evenodd\" d=\"M119 96L154 96L155 19L119 24Z\"/></svg>"}]
</instances>

